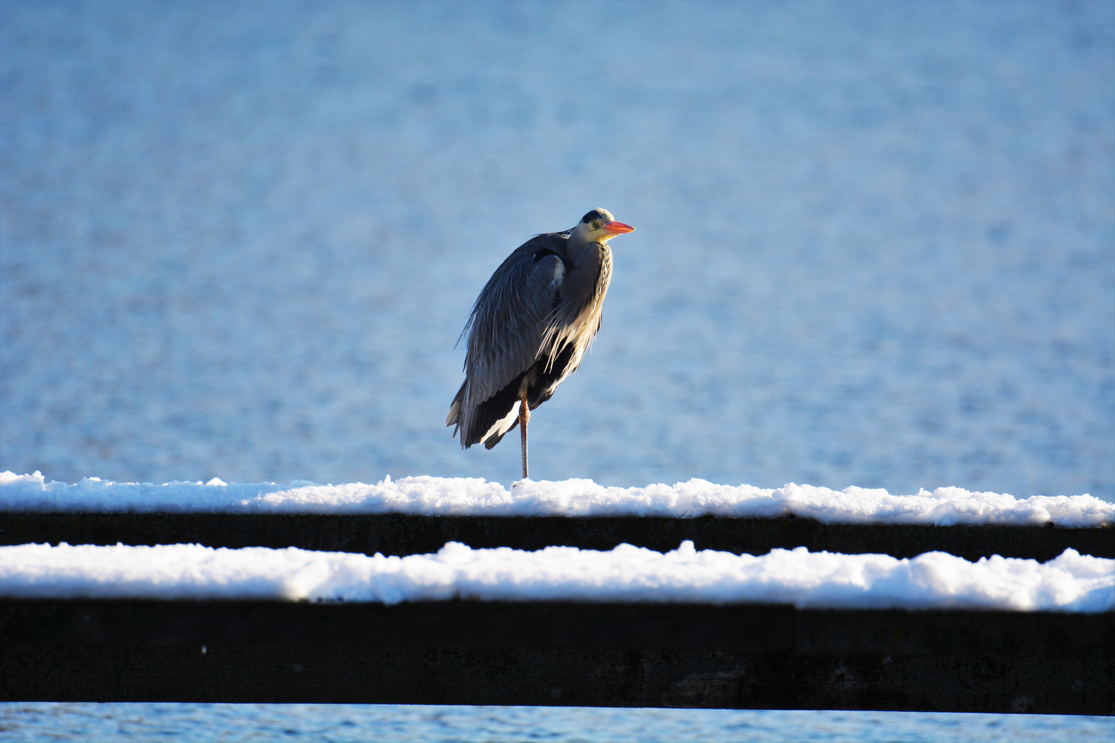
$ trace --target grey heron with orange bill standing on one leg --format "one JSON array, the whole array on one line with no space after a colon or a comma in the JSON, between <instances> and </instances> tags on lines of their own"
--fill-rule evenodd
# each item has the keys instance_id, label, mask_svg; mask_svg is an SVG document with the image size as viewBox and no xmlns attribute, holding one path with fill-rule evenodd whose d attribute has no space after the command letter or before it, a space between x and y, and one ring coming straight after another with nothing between
<instances>
[{"instance_id":1,"label":"grey heron with orange bill standing on one leg","mask_svg":"<svg viewBox=\"0 0 1115 743\"><path fill-rule=\"evenodd\" d=\"M446 426L465 449L491 449L518 424L526 467L526 422L581 365L612 277L608 241L633 232L608 209L593 209L572 229L535 235L495 270L465 330L465 381Z\"/></svg>"}]
</instances>

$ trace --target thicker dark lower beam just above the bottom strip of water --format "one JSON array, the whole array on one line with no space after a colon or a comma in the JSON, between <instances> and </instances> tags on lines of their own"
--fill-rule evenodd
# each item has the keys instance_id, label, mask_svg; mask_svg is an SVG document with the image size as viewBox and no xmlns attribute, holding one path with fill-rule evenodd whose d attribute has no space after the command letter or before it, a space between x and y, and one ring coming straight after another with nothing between
<instances>
[{"instance_id":1,"label":"thicker dark lower beam just above the bottom strip of water","mask_svg":"<svg viewBox=\"0 0 1115 743\"><path fill-rule=\"evenodd\" d=\"M1115 615L0 600L6 701L1115 713Z\"/></svg>"}]
</instances>

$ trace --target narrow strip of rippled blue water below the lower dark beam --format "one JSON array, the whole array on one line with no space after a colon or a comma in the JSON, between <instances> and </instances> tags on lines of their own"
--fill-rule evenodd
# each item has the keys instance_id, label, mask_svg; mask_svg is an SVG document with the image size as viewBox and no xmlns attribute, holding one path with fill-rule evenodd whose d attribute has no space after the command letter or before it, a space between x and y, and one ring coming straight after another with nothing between
<instances>
[{"instance_id":1,"label":"narrow strip of rippled blue water below the lower dark beam","mask_svg":"<svg viewBox=\"0 0 1115 743\"><path fill-rule=\"evenodd\" d=\"M1109 742L1115 720L1057 715L328 704L0 704L6 741L462 743Z\"/></svg>"}]
</instances>

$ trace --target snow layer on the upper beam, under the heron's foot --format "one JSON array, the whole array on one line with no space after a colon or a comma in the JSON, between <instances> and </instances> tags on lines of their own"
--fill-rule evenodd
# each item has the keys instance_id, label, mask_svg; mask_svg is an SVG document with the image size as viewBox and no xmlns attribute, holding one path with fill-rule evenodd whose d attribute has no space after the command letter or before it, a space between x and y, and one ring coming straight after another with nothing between
<instances>
[{"instance_id":1,"label":"snow layer on the upper beam, under the heron's foot","mask_svg":"<svg viewBox=\"0 0 1115 743\"><path fill-rule=\"evenodd\" d=\"M0 473L0 510L234 514L425 514L440 516L672 516L778 517L794 514L826 524L953 524L1103 526L1115 522L1115 504L1092 496L1018 499L962 488L892 496L882 489L830 490L786 485L689 480L673 486L605 488L592 480L516 482L508 491L477 478L385 478L376 485L294 481L231 483L47 482L41 473Z\"/></svg>"}]
</instances>

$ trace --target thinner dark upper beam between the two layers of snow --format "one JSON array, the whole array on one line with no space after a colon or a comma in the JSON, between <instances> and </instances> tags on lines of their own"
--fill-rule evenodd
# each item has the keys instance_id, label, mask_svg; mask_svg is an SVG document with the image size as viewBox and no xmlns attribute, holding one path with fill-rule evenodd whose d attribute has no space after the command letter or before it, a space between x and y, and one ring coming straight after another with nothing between
<instances>
[{"instance_id":1,"label":"thinner dark upper beam between the two layers of snow","mask_svg":"<svg viewBox=\"0 0 1115 743\"><path fill-rule=\"evenodd\" d=\"M551 545L612 549L628 542L665 551L683 539L691 539L697 549L752 555L804 546L852 555L915 557L940 550L969 560L1001 555L1045 561L1072 547L1084 555L1115 557L1115 532L1106 527L821 524L801 518L0 511L0 545L201 544L416 555L437 551L447 541L529 550Z\"/></svg>"}]
</instances>

